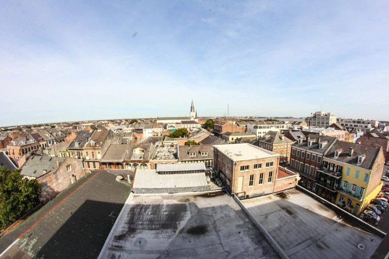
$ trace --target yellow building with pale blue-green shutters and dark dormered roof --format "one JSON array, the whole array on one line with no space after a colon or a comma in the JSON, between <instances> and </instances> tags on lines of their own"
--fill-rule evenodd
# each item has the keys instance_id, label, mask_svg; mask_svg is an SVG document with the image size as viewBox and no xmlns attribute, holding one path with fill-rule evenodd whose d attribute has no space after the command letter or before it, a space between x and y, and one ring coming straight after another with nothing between
<instances>
[{"instance_id":1,"label":"yellow building with pale blue-green shutters and dark dormered roof","mask_svg":"<svg viewBox=\"0 0 389 259\"><path fill-rule=\"evenodd\" d=\"M381 191L382 147L337 141L323 158L323 168L341 173L335 204L358 215Z\"/></svg>"}]
</instances>

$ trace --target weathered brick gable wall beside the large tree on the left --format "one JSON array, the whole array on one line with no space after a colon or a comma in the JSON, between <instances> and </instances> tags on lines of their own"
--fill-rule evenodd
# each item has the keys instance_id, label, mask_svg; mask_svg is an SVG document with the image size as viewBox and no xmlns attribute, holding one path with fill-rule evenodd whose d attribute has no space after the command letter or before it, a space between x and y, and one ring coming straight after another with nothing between
<instances>
[{"instance_id":1,"label":"weathered brick gable wall beside the large tree on the left","mask_svg":"<svg viewBox=\"0 0 389 259\"><path fill-rule=\"evenodd\" d=\"M67 166L71 166L71 171L68 172ZM71 157L67 157L60 165L56 173L48 172L47 174L37 178L38 183L42 184L42 194L40 200L46 202L65 190L71 185L71 181L75 183L83 177L81 161Z\"/></svg>"}]
</instances>

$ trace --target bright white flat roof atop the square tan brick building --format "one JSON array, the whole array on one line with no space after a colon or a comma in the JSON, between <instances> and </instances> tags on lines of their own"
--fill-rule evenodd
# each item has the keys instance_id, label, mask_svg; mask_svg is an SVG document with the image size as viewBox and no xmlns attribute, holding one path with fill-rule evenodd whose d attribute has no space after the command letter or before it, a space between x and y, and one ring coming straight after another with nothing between
<instances>
[{"instance_id":1,"label":"bright white flat roof atop the square tan brick building","mask_svg":"<svg viewBox=\"0 0 389 259\"><path fill-rule=\"evenodd\" d=\"M230 156L233 161L252 160L266 157L280 156L277 153L271 152L261 147L257 147L248 143L231 144L231 145L214 145L221 152Z\"/></svg>"}]
</instances>

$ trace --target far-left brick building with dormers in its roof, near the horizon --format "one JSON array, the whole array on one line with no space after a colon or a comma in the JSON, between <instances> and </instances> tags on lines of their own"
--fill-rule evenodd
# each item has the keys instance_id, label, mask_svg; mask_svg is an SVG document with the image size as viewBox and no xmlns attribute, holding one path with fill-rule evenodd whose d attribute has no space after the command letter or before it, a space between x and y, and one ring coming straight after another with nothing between
<instances>
[{"instance_id":1,"label":"far-left brick building with dormers in its roof, near the horizon","mask_svg":"<svg viewBox=\"0 0 389 259\"><path fill-rule=\"evenodd\" d=\"M24 155L37 151L40 149L39 137L37 133L20 135L8 144L8 156L20 159Z\"/></svg>"}]
</instances>

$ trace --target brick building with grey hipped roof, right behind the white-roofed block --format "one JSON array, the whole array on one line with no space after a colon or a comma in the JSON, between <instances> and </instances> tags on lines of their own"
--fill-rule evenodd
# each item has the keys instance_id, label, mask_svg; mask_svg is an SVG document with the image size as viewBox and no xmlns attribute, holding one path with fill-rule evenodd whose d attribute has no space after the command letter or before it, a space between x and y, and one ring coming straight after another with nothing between
<instances>
[{"instance_id":1,"label":"brick building with grey hipped roof, right behind the white-roofed block","mask_svg":"<svg viewBox=\"0 0 389 259\"><path fill-rule=\"evenodd\" d=\"M280 154L280 164L289 164L291 155L291 146L293 140L287 138L278 131L268 131L265 135L258 138L257 146Z\"/></svg>"}]
</instances>

